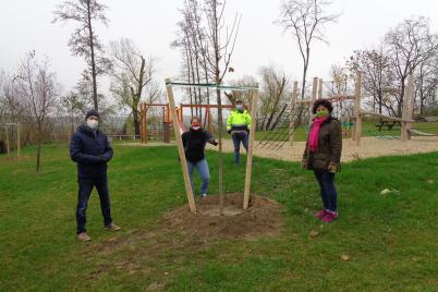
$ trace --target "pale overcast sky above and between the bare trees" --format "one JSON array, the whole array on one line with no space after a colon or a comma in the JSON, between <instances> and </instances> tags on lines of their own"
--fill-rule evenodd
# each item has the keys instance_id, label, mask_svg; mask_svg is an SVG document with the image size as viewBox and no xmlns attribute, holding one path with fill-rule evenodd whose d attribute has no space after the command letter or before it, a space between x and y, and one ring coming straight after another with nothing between
<instances>
[{"instance_id":1,"label":"pale overcast sky above and between the bare trees","mask_svg":"<svg viewBox=\"0 0 438 292\"><path fill-rule=\"evenodd\" d=\"M0 70L11 73L29 50L51 60L52 70L65 90L73 87L85 66L81 58L74 58L66 46L74 23L51 21L52 11L62 0L1 1L0 17ZM181 56L170 48L181 20L178 9L182 0L101 0L108 5L108 27L98 26L97 34L104 44L121 37L131 38L146 56L158 59L156 77L177 78L181 69ZM233 75L257 75L261 65L280 65L292 78L300 80L301 57L292 37L283 34L273 22L279 15L280 0L228 0L227 16L242 14L232 66ZM328 77L331 64L343 64L353 50L369 47L379 41L389 28L413 15L430 19L433 32L438 33L437 0L334 0L332 12L341 12L337 24L327 26L329 45L313 45L308 78ZM435 19L434 19L435 16ZM104 92L104 94L106 94Z\"/></svg>"}]
</instances>

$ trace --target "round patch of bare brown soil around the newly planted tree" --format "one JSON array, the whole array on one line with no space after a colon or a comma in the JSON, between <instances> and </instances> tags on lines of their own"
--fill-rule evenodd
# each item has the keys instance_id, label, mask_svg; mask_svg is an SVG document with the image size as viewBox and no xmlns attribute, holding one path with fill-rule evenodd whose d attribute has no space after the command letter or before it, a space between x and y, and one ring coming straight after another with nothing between
<instances>
[{"instance_id":1,"label":"round patch of bare brown soil around the newly planted tree","mask_svg":"<svg viewBox=\"0 0 438 292\"><path fill-rule=\"evenodd\" d=\"M182 231L202 240L258 239L281 233L284 219L282 206L269 198L252 195L250 207L244 210L243 194L227 194L223 215L220 215L219 196L196 198L197 214L181 206L165 215L166 228Z\"/></svg>"}]
</instances>

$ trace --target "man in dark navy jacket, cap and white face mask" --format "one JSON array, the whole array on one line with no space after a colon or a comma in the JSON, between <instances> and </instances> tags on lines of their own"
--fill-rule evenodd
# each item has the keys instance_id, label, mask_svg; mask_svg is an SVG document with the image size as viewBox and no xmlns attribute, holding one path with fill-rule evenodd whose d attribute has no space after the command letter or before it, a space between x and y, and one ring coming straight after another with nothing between
<instances>
[{"instance_id":1,"label":"man in dark navy jacket, cap and white face mask","mask_svg":"<svg viewBox=\"0 0 438 292\"><path fill-rule=\"evenodd\" d=\"M117 231L121 228L112 223L110 198L108 192L107 162L112 158L112 147L107 135L98 129L100 115L89 110L85 123L77 127L70 141L70 157L77 163L77 239L89 241L86 233L86 210L93 187L99 194L104 226L107 230Z\"/></svg>"}]
</instances>

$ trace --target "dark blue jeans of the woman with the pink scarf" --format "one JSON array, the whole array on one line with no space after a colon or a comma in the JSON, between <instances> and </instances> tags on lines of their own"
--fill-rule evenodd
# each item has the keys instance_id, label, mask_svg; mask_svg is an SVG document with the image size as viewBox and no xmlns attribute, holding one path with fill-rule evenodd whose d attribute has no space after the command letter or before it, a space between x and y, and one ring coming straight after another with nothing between
<instances>
[{"instance_id":1,"label":"dark blue jeans of the woman with the pink scarf","mask_svg":"<svg viewBox=\"0 0 438 292\"><path fill-rule=\"evenodd\" d=\"M334 186L334 173L328 171L314 170L315 178L318 181L323 206L326 210L338 210L338 193Z\"/></svg>"}]
</instances>

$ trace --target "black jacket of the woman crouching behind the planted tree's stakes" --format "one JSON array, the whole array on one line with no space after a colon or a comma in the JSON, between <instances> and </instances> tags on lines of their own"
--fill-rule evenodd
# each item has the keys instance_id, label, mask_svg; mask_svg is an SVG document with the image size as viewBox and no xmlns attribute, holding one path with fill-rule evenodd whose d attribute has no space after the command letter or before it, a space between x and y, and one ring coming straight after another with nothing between
<instances>
[{"instance_id":1,"label":"black jacket of the woman crouching behind the planted tree's stakes","mask_svg":"<svg viewBox=\"0 0 438 292\"><path fill-rule=\"evenodd\" d=\"M205 145L208 143L217 145L215 139L205 130L195 131L192 127L181 136L184 146L185 158L191 162L204 159Z\"/></svg>"}]
</instances>

